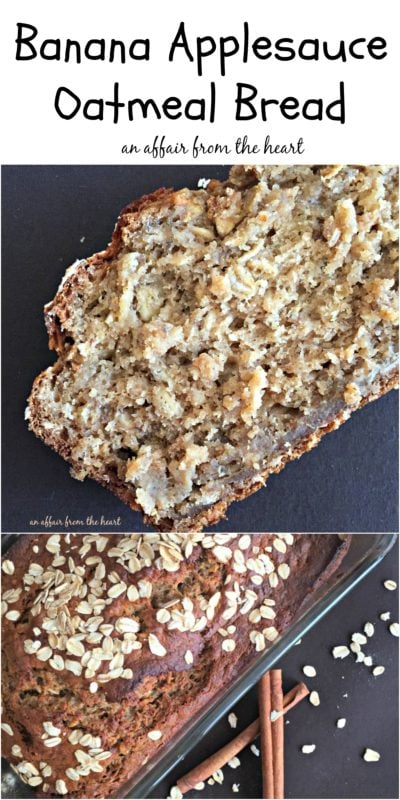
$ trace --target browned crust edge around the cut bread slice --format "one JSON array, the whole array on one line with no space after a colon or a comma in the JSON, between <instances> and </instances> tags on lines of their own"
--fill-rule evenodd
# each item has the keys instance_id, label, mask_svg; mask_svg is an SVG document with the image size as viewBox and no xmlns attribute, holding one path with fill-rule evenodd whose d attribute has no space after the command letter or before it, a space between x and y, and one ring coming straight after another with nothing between
<instances>
[{"instance_id":1,"label":"browned crust edge around the cut bread slice","mask_svg":"<svg viewBox=\"0 0 400 800\"><path fill-rule=\"evenodd\" d=\"M234 168L231 175L232 185L235 186L240 180L246 182L251 180L250 168L244 178L240 174L240 168ZM260 168L261 169L261 168ZM332 168L333 169L333 168ZM218 182L210 184L209 193L211 202L218 203L221 185ZM85 294L90 289L92 282L101 281L107 275L109 269L114 268L115 259L121 252L124 231L132 224L140 225L141 220L146 219L146 213L154 213L155 209L173 209L174 205L181 199L179 192L171 189L160 189L157 192L146 195L140 200L127 206L118 219L112 241L108 248L101 253L95 254L87 260L77 262L70 271L67 271L63 283L60 286L54 300L45 307L45 321L49 333L49 347L55 349L59 355L59 361L49 370L42 372L35 380L32 393L29 399L29 426L34 433L46 444L51 446L72 467L79 471L79 463L74 457L73 446L67 437L60 437L57 431L44 424L45 415L43 413L43 398L41 397L42 388L49 380L49 374L56 376L63 370L65 358L68 356L69 338L68 326L76 299ZM144 223L142 223L144 224ZM351 384L354 388L354 384ZM359 407L375 400L398 386L398 368L391 366L385 373L375 376L370 385L364 390L356 391L350 399L345 396L336 397L333 402L322 402L317 409L316 415L309 419L302 419L298 429L288 432L287 438L278 444L272 451L266 465L244 464L242 468L236 469L232 474L226 476L223 491L215 502L202 502L200 500L191 502L190 499L185 503L185 508L181 513L164 514L146 513L137 497L137 488L134 483L130 483L112 465L107 467L103 464L101 468L92 467L87 474L94 480L110 489L123 502L133 510L142 511L147 524L158 530L201 530L204 526L217 523L225 514L229 504L234 500L241 500L261 488L268 476L279 472L285 464L298 458L302 453L312 449L318 444L326 433L338 428L345 422L350 414ZM171 509L173 511L174 509Z\"/></svg>"}]
</instances>

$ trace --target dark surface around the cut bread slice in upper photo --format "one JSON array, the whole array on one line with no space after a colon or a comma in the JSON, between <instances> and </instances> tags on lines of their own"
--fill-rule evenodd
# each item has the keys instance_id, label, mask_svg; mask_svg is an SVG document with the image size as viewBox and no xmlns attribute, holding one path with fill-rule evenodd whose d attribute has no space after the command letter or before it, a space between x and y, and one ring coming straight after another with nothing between
<instances>
[{"instance_id":1,"label":"dark surface around the cut bread slice in upper photo","mask_svg":"<svg viewBox=\"0 0 400 800\"><path fill-rule=\"evenodd\" d=\"M52 530L65 530L66 518L69 530L91 530L91 516L97 530L143 529L141 515L93 481L74 481L27 430L26 397L54 358L42 308L67 266L105 246L130 200L160 185L194 187L200 177L226 174L215 166L3 167L3 531L37 530L34 520L43 530L46 517ZM266 489L231 506L213 530L395 529L397 419L391 392L272 476Z\"/></svg>"}]
</instances>

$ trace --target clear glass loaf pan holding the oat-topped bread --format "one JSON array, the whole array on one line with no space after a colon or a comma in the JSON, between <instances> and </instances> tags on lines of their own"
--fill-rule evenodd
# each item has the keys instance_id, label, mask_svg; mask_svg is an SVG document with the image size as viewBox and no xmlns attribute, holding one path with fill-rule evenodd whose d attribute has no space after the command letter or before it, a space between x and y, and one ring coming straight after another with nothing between
<instances>
[{"instance_id":1,"label":"clear glass loaf pan holding the oat-topped bread","mask_svg":"<svg viewBox=\"0 0 400 800\"><path fill-rule=\"evenodd\" d=\"M16 535L3 534L3 552ZM312 535L312 534L310 534ZM345 534L341 534L343 536ZM254 660L236 680L216 695L196 719L190 720L169 741L157 755L146 764L139 773L115 797L145 798L151 797L157 783L165 777L172 767L196 747L215 723L260 679L266 670L289 650L290 647L310 630L325 614L333 609L340 600L374 569L389 552L397 534L353 534L349 552L339 569L324 583L302 607L301 614L286 629L285 633L274 642L267 651L255 654ZM339 611L340 613L340 611ZM182 770L184 771L184 769ZM18 780L6 762L3 762L2 797L34 798L36 795Z\"/></svg>"}]
</instances>

